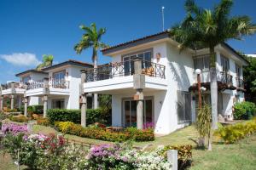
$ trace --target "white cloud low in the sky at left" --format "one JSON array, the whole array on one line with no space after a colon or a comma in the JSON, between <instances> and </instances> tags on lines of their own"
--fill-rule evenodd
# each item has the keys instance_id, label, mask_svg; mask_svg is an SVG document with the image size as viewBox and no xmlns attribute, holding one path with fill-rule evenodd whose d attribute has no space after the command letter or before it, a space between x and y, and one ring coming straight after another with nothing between
<instances>
[{"instance_id":1,"label":"white cloud low in the sky at left","mask_svg":"<svg viewBox=\"0 0 256 170\"><path fill-rule=\"evenodd\" d=\"M36 66L40 64L36 54L30 53L0 54L0 59L4 59L12 65L19 66Z\"/></svg>"}]
</instances>

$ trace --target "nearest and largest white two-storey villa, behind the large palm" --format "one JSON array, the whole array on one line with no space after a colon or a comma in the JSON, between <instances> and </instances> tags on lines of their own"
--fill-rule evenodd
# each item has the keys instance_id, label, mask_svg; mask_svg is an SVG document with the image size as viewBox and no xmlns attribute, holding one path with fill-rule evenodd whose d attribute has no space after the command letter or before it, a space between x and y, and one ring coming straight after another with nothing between
<instances>
[{"instance_id":1,"label":"nearest and largest white two-storey villa, behind the large palm","mask_svg":"<svg viewBox=\"0 0 256 170\"><path fill-rule=\"evenodd\" d=\"M242 101L242 65L247 61L228 44L215 48L218 71L218 113L232 119L232 106ZM154 123L154 133L172 133L195 122L197 88L195 69L202 71L201 85L210 102L209 50L179 52L168 32L102 50L112 63L84 71L84 94L112 95L113 126L142 127ZM83 79L82 79L83 80ZM139 124L139 125L138 125Z\"/></svg>"}]
</instances>

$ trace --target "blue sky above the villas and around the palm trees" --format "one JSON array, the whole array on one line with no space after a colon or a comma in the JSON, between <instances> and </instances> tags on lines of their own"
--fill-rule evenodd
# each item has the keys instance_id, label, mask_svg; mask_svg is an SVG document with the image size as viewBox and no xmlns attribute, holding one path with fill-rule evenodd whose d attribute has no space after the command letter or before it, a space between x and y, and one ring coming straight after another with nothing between
<instances>
[{"instance_id":1,"label":"blue sky above the villas and around the palm trees","mask_svg":"<svg viewBox=\"0 0 256 170\"><path fill-rule=\"evenodd\" d=\"M195 0L211 8L218 0ZM256 22L254 0L234 0L233 15L247 14ZM183 20L184 1L170 0L1 0L0 82L17 80L15 74L32 69L43 54L53 54L55 63L67 59L91 62L91 50L75 54L73 46L82 35L79 25L95 22L106 27L103 42L114 45L162 30L161 6L166 28ZM230 45L246 54L256 53L256 36ZM99 54L99 62L109 57Z\"/></svg>"}]
</instances>

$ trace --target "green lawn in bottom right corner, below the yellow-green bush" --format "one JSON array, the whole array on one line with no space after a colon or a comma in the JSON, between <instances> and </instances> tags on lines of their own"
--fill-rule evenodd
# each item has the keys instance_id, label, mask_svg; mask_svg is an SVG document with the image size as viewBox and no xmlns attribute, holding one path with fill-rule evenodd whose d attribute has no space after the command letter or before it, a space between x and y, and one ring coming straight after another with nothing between
<instances>
[{"instance_id":1,"label":"green lawn in bottom right corner, below the yellow-green bush","mask_svg":"<svg viewBox=\"0 0 256 170\"><path fill-rule=\"evenodd\" d=\"M189 170L256 169L256 134L236 144L213 144L212 151L193 150Z\"/></svg>"}]
</instances>

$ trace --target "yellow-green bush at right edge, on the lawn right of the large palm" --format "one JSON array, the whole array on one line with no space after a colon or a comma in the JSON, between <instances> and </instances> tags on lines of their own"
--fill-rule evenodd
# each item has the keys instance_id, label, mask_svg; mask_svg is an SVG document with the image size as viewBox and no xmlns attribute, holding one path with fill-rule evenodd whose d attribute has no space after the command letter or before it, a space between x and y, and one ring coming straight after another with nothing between
<instances>
[{"instance_id":1,"label":"yellow-green bush at right edge, on the lawn right of the large palm","mask_svg":"<svg viewBox=\"0 0 256 170\"><path fill-rule=\"evenodd\" d=\"M246 123L237 123L235 125L222 127L215 131L214 134L224 140L225 144L233 144L255 132L256 121L253 120Z\"/></svg>"}]
</instances>

